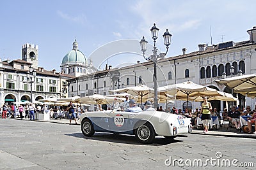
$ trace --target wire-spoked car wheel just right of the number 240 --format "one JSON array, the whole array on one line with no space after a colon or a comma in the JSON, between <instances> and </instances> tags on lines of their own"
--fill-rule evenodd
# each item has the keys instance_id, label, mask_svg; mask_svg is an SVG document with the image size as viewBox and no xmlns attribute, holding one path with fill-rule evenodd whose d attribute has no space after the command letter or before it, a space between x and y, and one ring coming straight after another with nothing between
<instances>
[{"instance_id":1,"label":"wire-spoked car wheel just right of the number 240","mask_svg":"<svg viewBox=\"0 0 256 170\"><path fill-rule=\"evenodd\" d=\"M135 138L140 143L152 143L156 134L154 128L150 123L145 123L140 125L137 129L135 129Z\"/></svg>"}]
</instances>

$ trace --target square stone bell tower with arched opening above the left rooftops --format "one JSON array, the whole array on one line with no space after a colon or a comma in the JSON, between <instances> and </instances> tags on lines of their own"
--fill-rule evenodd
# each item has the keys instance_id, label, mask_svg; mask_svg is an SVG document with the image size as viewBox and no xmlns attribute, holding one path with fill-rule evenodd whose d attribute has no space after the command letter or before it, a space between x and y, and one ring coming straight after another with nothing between
<instances>
[{"instance_id":1,"label":"square stone bell tower with arched opening above the left rooftops","mask_svg":"<svg viewBox=\"0 0 256 170\"><path fill-rule=\"evenodd\" d=\"M33 45L30 43L22 45L21 56L22 60L31 62L32 67L38 67L38 45Z\"/></svg>"}]
</instances>

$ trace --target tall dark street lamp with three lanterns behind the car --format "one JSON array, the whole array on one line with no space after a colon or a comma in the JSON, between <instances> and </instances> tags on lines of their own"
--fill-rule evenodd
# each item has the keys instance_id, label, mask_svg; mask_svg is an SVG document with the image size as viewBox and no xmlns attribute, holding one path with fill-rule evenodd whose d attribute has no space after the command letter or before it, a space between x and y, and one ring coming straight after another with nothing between
<instances>
[{"instance_id":1,"label":"tall dark street lamp with three lanterns behind the car","mask_svg":"<svg viewBox=\"0 0 256 170\"><path fill-rule=\"evenodd\" d=\"M157 54L157 47L156 47L156 39L158 38L158 31L159 29L156 27L156 24L153 25L153 27L150 29L152 34L152 39L154 39L154 48L152 50L153 55L150 55L150 57L145 57L145 52L147 50L147 41L145 40L144 36L140 41L141 51L143 52L143 57L145 60L152 60L154 62L154 108L157 108L158 106L158 99L157 99L157 59L161 57L162 55L166 55L168 52L169 45L171 44L171 37L172 34L168 32L168 29L166 29L166 32L163 34L164 38L164 45L166 45L166 53L159 55Z\"/></svg>"}]
</instances>

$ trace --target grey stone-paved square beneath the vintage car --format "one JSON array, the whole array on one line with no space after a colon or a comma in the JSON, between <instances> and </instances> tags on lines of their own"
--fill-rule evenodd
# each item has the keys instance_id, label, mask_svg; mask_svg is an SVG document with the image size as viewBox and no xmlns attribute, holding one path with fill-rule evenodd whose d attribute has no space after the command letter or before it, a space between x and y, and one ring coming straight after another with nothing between
<instances>
[{"instance_id":1,"label":"grey stone-paved square beneath the vintage car","mask_svg":"<svg viewBox=\"0 0 256 170\"><path fill-rule=\"evenodd\" d=\"M68 122L68 120L66 120ZM190 134L142 145L134 136L96 133L84 137L79 125L50 124L17 119L0 120L0 169L255 169L255 139ZM218 153L219 152L219 153ZM217 159L217 157L219 159ZM216 167L188 166L189 160L237 160ZM175 167L170 159L184 160ZM172 162L172 161L171 161ZM182 163L182 162L181 162ZM214 163L214 162L213 162ZM233 162L234 163L234 162ZM220 164L221 166L221 164Z\"/></svg>"}]
</instances>

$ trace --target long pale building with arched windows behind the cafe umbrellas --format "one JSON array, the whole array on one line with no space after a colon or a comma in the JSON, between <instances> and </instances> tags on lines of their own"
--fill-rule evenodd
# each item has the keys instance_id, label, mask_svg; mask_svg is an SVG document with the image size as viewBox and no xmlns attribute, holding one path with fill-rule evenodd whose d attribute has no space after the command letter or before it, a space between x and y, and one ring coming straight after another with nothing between
<instances>
[{"instance_id":1,"label":"long pale building with arched windows behind the cafe umbrellas","mask_svg":"<svg viewBox=\"0 0 256 170\"><path fill-rule=\"evenodd\" d=\"M184 50L186 48L184 48L181 55L157 60L158 86L189 80L222 92L231 93L230 89L218 85L214 80L221 79L223 74L230 77L237 76L239 73L256 73L254 64L256 63L256 27L247 32L250 36L247 41L228 41L212 46L201 44L198 45L198 51L196 52L186 53L186 50ZM139 46L139 44L137 45ZM124 49L124 51L127 50ZM230 72L231 66L234 67L234 73ZM68 80L68 96L88 96L95 93L108 95L109 90L120 88L120 85L131 87L144 84L148 87L154 87L153 74L153 62L146 60L131 66L113 69L106 67L103 71ZM80 88L78 89L78 87ZM236 104L241 108L246 105L254 108L255 99L237 94L234 94L234 96L238 97L239 101ZM175 107L184 109L184 106L187 106L187 103L185 103L186 101L176 101ZM211 101L211 103L219 111L223 108L229 109L231 104L225 101ZM168 106L171 106L171 104L168 104ZM195 109L200 106L200 103L189 102L188 106Z\"/></svg>"}]
</instances>

